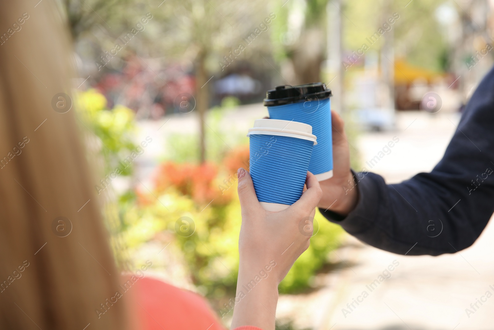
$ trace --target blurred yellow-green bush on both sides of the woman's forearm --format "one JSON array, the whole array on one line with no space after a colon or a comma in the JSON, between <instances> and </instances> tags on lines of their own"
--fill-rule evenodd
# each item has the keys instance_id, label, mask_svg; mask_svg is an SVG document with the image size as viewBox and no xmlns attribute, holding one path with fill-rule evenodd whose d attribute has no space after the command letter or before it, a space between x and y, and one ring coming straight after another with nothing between
<instances>
[{"instance_id":1,"label":"blurred yellow-green bush on both sides of the woman's forearm","mask_svg":"<svg viewBox=\"0 0 494 330\"><path fill-rule=\"evenodd\" d=\"M157 232L167 231L174 237L172 244L183 253L192 282L200 286L207 297L221 300L234 296L242 218L236 187L230 190L234 198L225 205L212 203L206 207L170 188L156 195L159 201L149 198L149 205L131 207L125 214L127 244L130 248L138 248ZM189 217L194 222L195 232L189 237L177 232L177 220L181 217ZM306 290L311 278L328 264L331 249L340 244L341 227L329 223L319 212L315 222L319 231L280 284L281 293Z\"/></svg>"}]
</instances>

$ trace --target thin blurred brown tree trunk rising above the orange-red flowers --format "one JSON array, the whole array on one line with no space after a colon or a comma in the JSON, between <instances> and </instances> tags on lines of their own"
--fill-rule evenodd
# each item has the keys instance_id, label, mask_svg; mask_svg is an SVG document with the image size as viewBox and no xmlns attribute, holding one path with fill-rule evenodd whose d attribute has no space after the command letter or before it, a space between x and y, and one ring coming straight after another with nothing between
<instances>
[{"instance_id":1,"label":"thin blurred brown tree trunk rising above the orange-red flowers","mask_svg":"<svg viewBox=\"0 0 494 330\"><path fill-rule=\"evenodd\" d=\"M209 105L209 94L207 93L207 72L205 67L206 51L199 52L196 58L196 109L199 119L199 161L206 161L206 135L204 132L204 124L207 107Z\"/></svg>"}]
</instances>

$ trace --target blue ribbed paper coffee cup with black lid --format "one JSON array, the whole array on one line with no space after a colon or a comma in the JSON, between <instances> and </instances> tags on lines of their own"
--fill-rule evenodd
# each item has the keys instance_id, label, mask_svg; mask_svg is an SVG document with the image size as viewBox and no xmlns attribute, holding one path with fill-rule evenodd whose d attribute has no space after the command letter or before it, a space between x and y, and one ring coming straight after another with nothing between
<instances>
[{"instance_id":1,"label":"blue ribbed paper coffee cup with black lid","mask_svg":"<svg viewBox=\"0 0 494 330\"><path fill-rule=\"evenodd\" d=\"M309 171L319 181L333 176L331 131L331 90L323 83L298 86L277 86L266 93L264 105L271 119L292 120L312 126L317 136L309 163Z\"/></svg>"}]
</instances>

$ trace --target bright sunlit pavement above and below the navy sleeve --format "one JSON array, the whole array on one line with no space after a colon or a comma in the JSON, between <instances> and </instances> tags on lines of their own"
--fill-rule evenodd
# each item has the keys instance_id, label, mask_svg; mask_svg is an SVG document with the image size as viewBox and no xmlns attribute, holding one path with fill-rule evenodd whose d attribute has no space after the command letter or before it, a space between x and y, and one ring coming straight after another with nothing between
<instances>
[{"instance_id":1,"label":"bright sunlit pavement above and below the navy sleeve","mask_svg":"<svg viewBox=\"0 0 494 330\"><path fill-rule=\"evenodd\" d=\"M441 159L458 120L453 113L398 114L395 132L360 136L362 164L389 183L430 171ZM370 168L366 162L393 137L400 140L391 153ZM494 294L493 236L491 224L472 247L439 257L395 255L348 236L333 260L341 257L349 267L318 278L324 283L319 291L282 296L277 316L294 318L300 329L493 329L494 298L483 297L487 291ZM395 267L393 261L399 265ZM391 278L370 287L389 265ZM363 291L368 295L364 297ZM357 305L354 298L361 302ZM477 298L487 301L477 303L474 310L470 304ZM467 315L466 308L474 313Z\"/></svg>"}]
</instances>

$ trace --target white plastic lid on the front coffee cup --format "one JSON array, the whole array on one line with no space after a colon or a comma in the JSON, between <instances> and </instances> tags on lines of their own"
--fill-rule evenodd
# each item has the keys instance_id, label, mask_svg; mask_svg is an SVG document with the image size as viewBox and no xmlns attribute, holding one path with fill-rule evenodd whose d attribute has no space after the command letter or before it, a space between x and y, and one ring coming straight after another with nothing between
<instances>
[{"instance_id":1,"label":"white plastic lid on the front coffee cup","mask_svg":"<svg viewBox=\"0 0 494 330\"><path fill-rule=\"evenodd\" d=\"M312 126L295 121L281 119L256 119L254 127L248 129L251 134L276 135L313 141L317 144L316 136L312 134Z\"/></svg>"}]
</instances>

